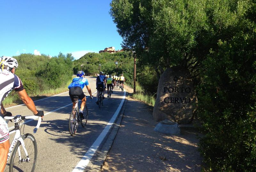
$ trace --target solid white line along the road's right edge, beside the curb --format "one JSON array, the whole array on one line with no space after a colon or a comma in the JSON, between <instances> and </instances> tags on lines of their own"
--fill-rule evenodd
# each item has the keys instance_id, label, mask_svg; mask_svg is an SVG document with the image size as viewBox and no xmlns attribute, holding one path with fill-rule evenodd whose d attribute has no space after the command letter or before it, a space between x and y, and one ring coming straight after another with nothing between
<instances>
[{"instance_id":1,"label":"solid white line along the road's right edge, beside the curb","mask_svg":"<svg viewBox=\"0 0 256 172\"><path fill-rule=\"evenodd\" d=\"M111 128L111 126L115 122L115 120L117 118L117 115L119 114L119 111L121 110L121 107L122 107L122 105L124 103L124 99L125 99L125 92L126 91L124 90L124 96L122 98L122 101L119 104L119 106L118 106L116 112L114 113L113 117L110 119L110 121L108 122L107 126L100 133L99 137L94 141L94 143L89 148L89 150L86 152L86 154L84 154L83 158L81 159L81 161L78 162L78 164L76 165L76 167L73 169L72 172L84 171L84 169L86 168L86 166L88 165L88 163L92 159L93 155L95 154L95 152L97 151L98 147L100 146L102 140L108 134L109 129Z\"/></svg>"}]
</instances>

